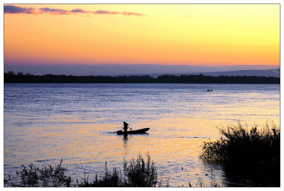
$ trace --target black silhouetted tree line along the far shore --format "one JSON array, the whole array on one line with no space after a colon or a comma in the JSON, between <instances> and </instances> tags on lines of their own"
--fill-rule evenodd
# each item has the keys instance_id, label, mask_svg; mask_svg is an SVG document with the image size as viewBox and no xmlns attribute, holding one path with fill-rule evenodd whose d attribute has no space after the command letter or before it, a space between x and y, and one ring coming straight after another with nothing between
<instances>
[{"instance_id":1,"label":"black silhouetted tree line along the far shore","mask_svg":"<svg viewBox=\"0 0 284 191\"><path fill-rule=\"evenodd\" d=\"M66 76L32 75L13 71L4 73L4 83L147 83L147 84L280 84L280 78L266 76L203 76L199 75L162 75L151 76Z\"/></svg>"}]
</instances>

